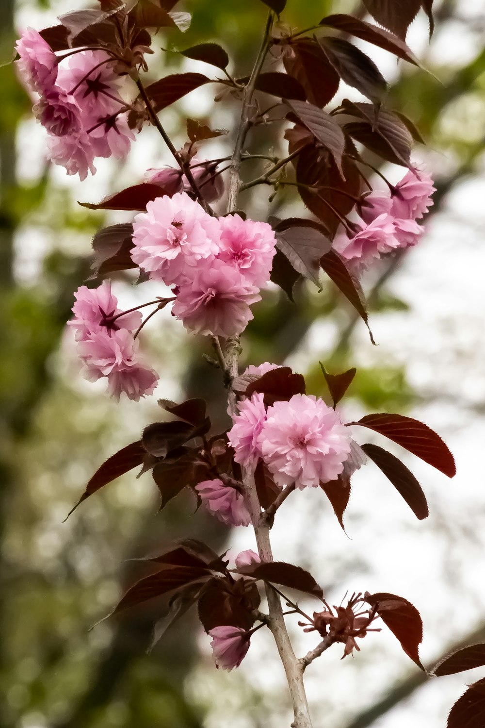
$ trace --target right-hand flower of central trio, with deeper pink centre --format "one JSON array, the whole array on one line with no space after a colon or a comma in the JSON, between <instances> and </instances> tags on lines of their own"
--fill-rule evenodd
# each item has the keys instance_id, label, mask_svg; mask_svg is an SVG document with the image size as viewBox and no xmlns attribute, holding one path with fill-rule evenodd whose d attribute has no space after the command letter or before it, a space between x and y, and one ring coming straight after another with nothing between
<instances>
[{"instance_id":1,"label":"right-hand flower of central trio, with deeper pink centre","mask_svg":"<svg viewBox=\"0 0 485 728\"><path fill-rule=\"evenodd\" d=\"M243 220L239 215L219 218L220 260L239 269L251 285L262 288L270 280L276 237L268 223Z\"/></svg>"}]
</instances>

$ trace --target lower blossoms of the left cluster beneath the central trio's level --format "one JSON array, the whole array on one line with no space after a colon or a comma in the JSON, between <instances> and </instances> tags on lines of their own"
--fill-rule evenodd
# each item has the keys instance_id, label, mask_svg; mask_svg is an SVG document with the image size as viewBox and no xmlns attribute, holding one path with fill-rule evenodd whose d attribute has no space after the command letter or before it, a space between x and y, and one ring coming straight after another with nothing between
<instances>
[{"instance_id":1,"label":"lower blossoms of the left cluster beneath the central trio's level","mask_svg":"<svg viewBox=\"0 0 485 728\"><path fill-rule=\"evenodd\" d=\"M129 400L153 394L158 376L137 360L138 341L126 329L98 331L90 339L79 341L78 351L84 363L84 377L96 381L108 377L108 392L116 400L124 392Z\"/></svg>"}]
</instances>

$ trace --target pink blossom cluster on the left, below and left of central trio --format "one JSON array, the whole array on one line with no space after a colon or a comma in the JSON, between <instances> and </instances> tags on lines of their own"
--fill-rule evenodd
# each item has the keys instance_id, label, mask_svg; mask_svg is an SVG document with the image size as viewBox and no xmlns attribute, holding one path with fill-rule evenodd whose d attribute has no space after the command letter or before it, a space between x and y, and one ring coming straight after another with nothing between
<instances>
[{"instance_id":1,"label":"pink blossom cluster on the left, below and left of central trio","mask_svg":"<svg viewBox=\"0 0 485 728\"><path fill-rule=\"evenodd\" d=\"M83 285L74 297L74 317L68 326L76 332L84 377L89 381L107 377L108 392L116 400L122 392L129 400L153 394L159 377L140 360L133 334L142 321L140 312L119 309L108 281L95 289Z\"/></svg>"}]
</instances>

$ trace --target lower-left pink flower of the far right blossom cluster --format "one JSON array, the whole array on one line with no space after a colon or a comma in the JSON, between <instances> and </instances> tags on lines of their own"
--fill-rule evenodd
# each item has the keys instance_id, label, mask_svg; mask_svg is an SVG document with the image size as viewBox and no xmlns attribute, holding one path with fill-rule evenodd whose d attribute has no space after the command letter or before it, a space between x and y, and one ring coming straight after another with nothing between
<instances>
[{"instance_id":1,"label":"lower-left pink flower of the far right blossom cluster","mask_svg":"<svg viewBox=\"0 0 485 728\"><path fill-rule=\"evenodd\" d=\"M338 235L333 247L348 261L358 260L366 263L372 258L380 258L382 253L390 253L391 250L399 248L393 218L386 213L377 215L377 218L362 227L350 239L346 234Z\"/></svg>"}]
</instances>

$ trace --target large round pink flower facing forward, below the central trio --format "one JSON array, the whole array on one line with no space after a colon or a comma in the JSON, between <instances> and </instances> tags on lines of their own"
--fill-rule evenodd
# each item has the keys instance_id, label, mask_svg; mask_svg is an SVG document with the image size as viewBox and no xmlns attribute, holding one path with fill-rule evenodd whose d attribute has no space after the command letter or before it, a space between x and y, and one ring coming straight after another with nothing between
<instances>
[{"instance_id":1,"label":"large round pink flower facing forward, below the central trio","mask_svg":"<svg viewBox=\"0 0 485 728\"><path fill-rule=\"evenodd\" d=\"M293 395L268 407L258 438L275 482L297 488L334 480L350 453L350 434L340 416L313 395Z\"/></svg>"}]
</instances>

